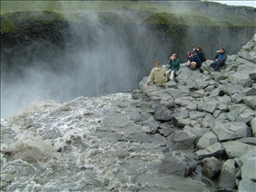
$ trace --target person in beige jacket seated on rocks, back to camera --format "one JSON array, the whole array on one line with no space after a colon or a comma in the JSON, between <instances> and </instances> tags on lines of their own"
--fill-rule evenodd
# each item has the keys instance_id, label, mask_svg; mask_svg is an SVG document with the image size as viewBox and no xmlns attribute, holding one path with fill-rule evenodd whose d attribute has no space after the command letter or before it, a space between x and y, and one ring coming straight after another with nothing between
<instances>
[{"instance_id":1,"label":"person in beige jacket seated on rocks, back to camera","mask_svg":"<svg viewBox=\"0 0 256 192\"><path fill-rule=\"evenodd\" d=\"M150 77L146 86L150 85L151 82L155 83L158 86L163 86L162 84L167 82L165 70L161 68L160 62L156 62L155 67L151 69Z\"/></svg>"}]
</instances>

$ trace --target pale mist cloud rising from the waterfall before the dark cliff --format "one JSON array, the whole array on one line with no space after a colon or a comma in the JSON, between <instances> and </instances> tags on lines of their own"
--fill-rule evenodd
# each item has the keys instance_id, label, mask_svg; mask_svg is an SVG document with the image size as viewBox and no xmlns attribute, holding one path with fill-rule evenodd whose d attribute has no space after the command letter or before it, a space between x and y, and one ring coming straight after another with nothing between
<instances>
[{"instance_id":1,"label":"pale mist cloud rising from the waterfall before the dark cliff","mask_svg":"<svg viewBox=\"0 0 256 192\"><path fill-rule=\"evenodd\" d=\"M69 24L64 46L34 41L4 49L11 57L1 59L2 117L33 101L133 91L154 62L167 62L171 45L162 46L164 39L145 27L104 25L86 16L86 22Z\"/></svg>"}]
</instances>

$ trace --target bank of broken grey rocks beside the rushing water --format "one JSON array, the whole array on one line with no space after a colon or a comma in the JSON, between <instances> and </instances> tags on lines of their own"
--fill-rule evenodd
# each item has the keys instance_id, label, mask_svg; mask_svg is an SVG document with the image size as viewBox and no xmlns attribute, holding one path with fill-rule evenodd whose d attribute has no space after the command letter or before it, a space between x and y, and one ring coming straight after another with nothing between
<instances>
[{"instance_id":1,"label":"bank of broken grey rocks beside the rushing water","mask_svg":"<svg viewBox=\"0 0 256 192\"><path fill-rule=\"evenodd\" d=\"M144 77L133 102L119 107L150 130L123 141L161 145L160 174L192 176L217 191L255 191L256 34L219 72L211 62L200 70L181 64L164 87L145 86Z\"/></svg>"}]
</instances>

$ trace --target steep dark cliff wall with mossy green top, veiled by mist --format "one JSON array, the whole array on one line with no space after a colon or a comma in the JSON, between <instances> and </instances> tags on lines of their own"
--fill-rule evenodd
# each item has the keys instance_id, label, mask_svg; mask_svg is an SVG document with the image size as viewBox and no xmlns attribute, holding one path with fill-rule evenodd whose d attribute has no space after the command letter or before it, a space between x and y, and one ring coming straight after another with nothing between
<instances>
[{"instance_id":1,"label":"steep dark cliff wall with mossy green top, veiled by mist","mask_svg":"<svg viewBox=\"0 0 256 192\"><path fill-rule=\"evenodd\" d=\"M102 6L94 13L84 11L82 5L78 10L69 6L62 11L20 8L3 13L1 82L6 97L35 95L66 101L132 91L155 61L166 64L173 52L182 62L186 52L198 45L207 59L213 59L221 47L236 54L256 30L253 8L229 11L225 5L173 1L116 3L116 8ZM218 14L213 14L216 10ZM20 88L20 93L13 92Z\"/></svg>"}]
</instances>

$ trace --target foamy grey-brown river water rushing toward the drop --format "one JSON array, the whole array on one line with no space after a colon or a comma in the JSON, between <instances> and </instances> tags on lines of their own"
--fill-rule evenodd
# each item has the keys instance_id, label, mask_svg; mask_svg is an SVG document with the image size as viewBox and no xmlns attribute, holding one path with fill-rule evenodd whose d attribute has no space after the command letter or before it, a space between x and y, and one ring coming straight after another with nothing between
<instances>
[{"instance_id":1,"label":"foamy grey-brown river water rushing toward the drop","mask_svg":"<svg viewBox=\"0 0 256 192\"><path fill-rule=\"evenodd\" d=\"M120 142L147 127L117 106L129 93L38 101L1 120L3 191L183 191L191 178L158 174L162 148ZM202 184L198 183L198 190Z\"/></svg>"}]
</instances>

